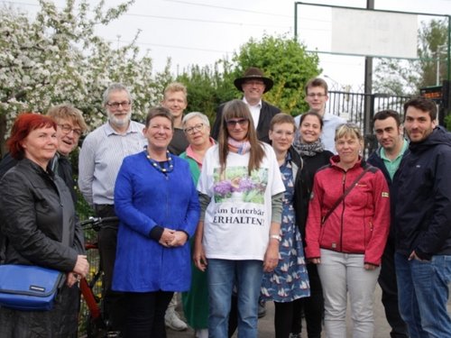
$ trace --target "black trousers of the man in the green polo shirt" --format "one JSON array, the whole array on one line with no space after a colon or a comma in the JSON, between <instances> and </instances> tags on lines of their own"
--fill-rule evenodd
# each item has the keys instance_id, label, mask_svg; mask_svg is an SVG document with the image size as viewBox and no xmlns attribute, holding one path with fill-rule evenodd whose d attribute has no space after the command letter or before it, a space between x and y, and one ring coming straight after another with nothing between
<instances>
[{"instance_id":1,"label":"black trousers of the man in the green polo shirt","mask_svg":"<svg viewBox=\"0 0 451 338\"><path fill-rule=\"evenodd\" d=\"M385 309L385 317L391 326L391 338L408 338L407 325L400 317L398 306L398 285L396 283L396 269L394 264L395 243L389 237L382 255L381 273L379 285L382 288L382 305Z\"/></svg>"}]
</instances>

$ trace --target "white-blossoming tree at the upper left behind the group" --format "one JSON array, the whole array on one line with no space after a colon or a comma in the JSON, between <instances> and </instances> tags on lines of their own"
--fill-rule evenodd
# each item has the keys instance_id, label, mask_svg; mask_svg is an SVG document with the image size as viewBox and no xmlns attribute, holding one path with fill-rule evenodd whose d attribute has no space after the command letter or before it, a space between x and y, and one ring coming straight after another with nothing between
<instances>
[{"instance_id":1,"label":"white-blossoming tree at the upper left behind the group","mask_svg":"<svg viewBox=\"0 0 451 338\"><path fill-rule=\"evenodd\" d=\"M171 79L169 61L165 71L153 75L152 59L142 56L134 41L115 49L95 33L97 25L107 25L132 4L105 9L103 1L90 8L87 0L77 6L67 0L59 10L41 0L33 19L11 5L0 8L0 151L8 127L23 111L71 103L91 128L97 127L105 121L101 97L111 82L130 87L135 119L157 104Z\"/></svg>"}]
</instances>

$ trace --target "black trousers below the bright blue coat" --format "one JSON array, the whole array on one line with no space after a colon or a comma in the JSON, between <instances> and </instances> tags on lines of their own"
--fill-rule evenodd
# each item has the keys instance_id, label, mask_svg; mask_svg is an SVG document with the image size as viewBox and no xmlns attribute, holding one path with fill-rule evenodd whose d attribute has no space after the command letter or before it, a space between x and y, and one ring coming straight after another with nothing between
<instances>
[{"instance_id":1,"label":"black trousers below the bright blue coat","mask_svg":"<svg viewBox=\"0 0 451 338\"><path fill-rule=\"evenodd\" d=\"M173 292L127 292L127 338L166 338L164 314Z\"/></svg>"}]
</instances>

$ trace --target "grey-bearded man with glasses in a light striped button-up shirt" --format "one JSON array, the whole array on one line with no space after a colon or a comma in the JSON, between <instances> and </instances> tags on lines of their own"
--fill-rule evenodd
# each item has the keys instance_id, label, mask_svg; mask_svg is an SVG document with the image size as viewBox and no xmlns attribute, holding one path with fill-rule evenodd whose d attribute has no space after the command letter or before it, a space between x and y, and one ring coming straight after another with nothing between
<instances>
[{"instance_id":1,"label":"grey-bearded man with glasses in a light striped button-up shirt","mask_svg":"<svg viewBox=\"0 0 451 338\"><path fill-rule=\"evenodd\" d=\"M115 178L122 161L143 151L147 141L143 136L144 125L131 120L132 97L124 85L110 85L104 93L103 105L107 122L90 132L83 142L78 159L78 186L97 216L110 217L115 216ZM118 224L109 223L98 233L104 269L104 316L113 332L122 331L126 319L124 295L111 290Z\"/></svg>"}]
</instances>

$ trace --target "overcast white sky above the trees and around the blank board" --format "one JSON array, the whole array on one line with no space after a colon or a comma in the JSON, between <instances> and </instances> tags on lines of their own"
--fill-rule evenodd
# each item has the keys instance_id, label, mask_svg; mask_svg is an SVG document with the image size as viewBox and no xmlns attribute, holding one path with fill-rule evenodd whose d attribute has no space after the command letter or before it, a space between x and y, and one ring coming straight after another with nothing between
<instances>
[{"instance_id":1,"label":"overcast white sky above the trees and around the blank board","mask_svg":"<svg viewBox=\"0 0 451 338\"><path fill-rule=\"evenodd\" d=\"M14 3L35 12L37 0L0 1ZM55 0L62 6L64 0ZM91 1L90 3L94 3ZM115 6L119 0L106 0ZM365 7L365 0L311 0L310 4ZM374 0L375 9L451 14L451 0ZM330 36L330 14L317 6L299 5L299 38L308 49ZM424 18L421 16L421 18ZM428 20L430 17L427 17ZM421 19L422 20L422 19ZM356 29L358 29L356 27ZM401 29L401 27L400 27ZM262 34L294 34L294 2L291 0L136 0L127 14L98 31L117 44L133 40L141 30L138 45L149 50L154 70L161 70L171 59L174 73L192 64L212 65L231 56L251 37ZM324 49L327 49L325 47ZM328 51L328 50L325 50ZM364 58L320 54L323 76L331 85L358 85L364 82Z\"/></svg>"}]
</instances>

